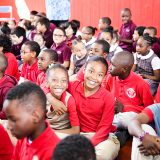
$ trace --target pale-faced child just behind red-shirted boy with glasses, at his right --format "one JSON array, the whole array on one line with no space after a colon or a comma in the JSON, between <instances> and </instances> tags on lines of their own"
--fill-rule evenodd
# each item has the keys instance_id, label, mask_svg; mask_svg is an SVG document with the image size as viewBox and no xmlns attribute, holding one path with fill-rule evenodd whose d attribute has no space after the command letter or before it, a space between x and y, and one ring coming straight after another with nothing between
<instances>
[{"instance_id":1,"label":"pale-faced child just behind red-shirted boy with glasses, at his right","mask_svg":"<svg viewBox=\"0 0 160 160\"><path fill-rule=\"evenodd\" d=\"M44 49L47 49L47 47L45 46L46 38L44 37L43 34L37 33L34 36L34 41L39 44L41 51L44 50Z\"/></svg>"}]
</instances>

